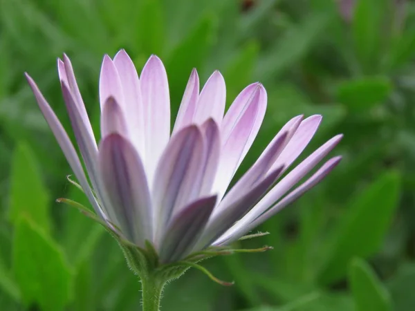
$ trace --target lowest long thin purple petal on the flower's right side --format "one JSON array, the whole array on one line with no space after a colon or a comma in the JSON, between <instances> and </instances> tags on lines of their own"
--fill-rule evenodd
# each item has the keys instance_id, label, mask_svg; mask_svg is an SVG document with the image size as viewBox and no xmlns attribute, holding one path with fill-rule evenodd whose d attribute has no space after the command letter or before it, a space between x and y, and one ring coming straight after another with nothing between
<instances>
[{"instance_id":1,"label":"lowest long thin purple petal on the flower's right side","mask_svg":"<svg viewBox=\"0 0 415 311\"><path fill-rule=\"evenodd\" d=\"M268 220L270 217L277 214L281 209L286 207L287 205L290 205L292 202L297 200L300 196L302 196L306 191L312 189L317 185L319 182L321 182L329 173L340 163L340 160L342 160L341 156L331 158L326 163L323 164L322 167L318 171L316 171L313 176L308 178L302 185L297 187L295 190L291 191L290 194L285 196L282 200L280 200L276 205L268 209L264 214L259 216L257 219L252 221L249 225L246 227L241 227L239 231L232 232L231 235L228 233L219 238L217 241L214 242L214 245L222 245L224 243L232 243L234 241L237 241L241 236L244 236L248 232L250 232L252 229L255 229L255 227L258 227L261 225L261 223L264 223L264 221Z\"/></svg>"}]
</instances>

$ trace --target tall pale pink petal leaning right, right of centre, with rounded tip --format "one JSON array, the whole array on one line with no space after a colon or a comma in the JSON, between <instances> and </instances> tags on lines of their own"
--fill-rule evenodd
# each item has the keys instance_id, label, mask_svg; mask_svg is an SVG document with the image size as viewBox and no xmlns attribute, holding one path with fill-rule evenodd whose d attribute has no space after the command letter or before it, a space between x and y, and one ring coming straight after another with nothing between
<instances>
[{"instance_id":1,"label":"tall pale pink petal leaning right, right of centre, with rounded tip","mask_svg":"<svg viewBox=\"0 0 415 311\"><path fill-rule=\"evenodd\" d=\"M266 91L261 85L255 88L250 100L246 103L246 109L239 115L238 120L232 126L228 137L223 138L221 162L219 164L220 175L216 176L214 191L219 198L225 194L226 189L237 171L239 164L245 157L252 138L257 135L258 118L262 119L262 113L266 105ZM222 133L221 133L222 134Z\"/></svg>"}]
</instances>

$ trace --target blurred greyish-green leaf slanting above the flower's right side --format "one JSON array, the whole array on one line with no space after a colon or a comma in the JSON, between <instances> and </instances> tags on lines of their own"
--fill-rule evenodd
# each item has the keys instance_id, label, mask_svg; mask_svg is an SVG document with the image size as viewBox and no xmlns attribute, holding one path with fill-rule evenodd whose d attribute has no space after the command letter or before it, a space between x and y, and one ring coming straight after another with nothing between
<instances>
[{"instance_id":1,"label":"blurred greyish-green leaf slanting above the flower's right side","mask_svg":"<svg viewBox=\"0 0 415 311\"><path fill-rule=\"evenodd\" d=\"M255 77L261 81L277 77L284 73L284 70L298 63L320 38L329 25L330 18L331 16L326 12L312 13L302 23L288 28L284 37L279 39L265 55L261 55Z\"/></svg>"}]
</instances>

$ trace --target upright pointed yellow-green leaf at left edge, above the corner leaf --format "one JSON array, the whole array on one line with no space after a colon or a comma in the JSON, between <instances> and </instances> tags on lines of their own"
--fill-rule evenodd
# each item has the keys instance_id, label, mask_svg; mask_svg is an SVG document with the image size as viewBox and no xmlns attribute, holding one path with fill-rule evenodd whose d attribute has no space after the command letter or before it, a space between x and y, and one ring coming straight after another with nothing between
<instances>
[{"instance_id":1,"label":"upright pointed yellow-green leaf at left edge, above the corner leaf","mask_svg":"<svg viewBox=\"0 0 415 311\"><path fill-rule=\"evenodd\" d=\"M10 220L16 223L19 216L25 215L45 232L50 232L48 203L48 190L35 156L27 144L20 143L12 160Z\"/></svg>"}]
</instances>

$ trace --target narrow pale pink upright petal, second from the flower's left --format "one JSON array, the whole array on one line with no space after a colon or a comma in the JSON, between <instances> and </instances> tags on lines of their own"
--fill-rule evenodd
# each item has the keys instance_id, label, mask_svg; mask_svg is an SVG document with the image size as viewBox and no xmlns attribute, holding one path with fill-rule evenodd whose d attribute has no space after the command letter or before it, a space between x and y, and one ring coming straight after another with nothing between
<instances>
[{"instance_id":1,"label":"narrow pale pink upright petal, second from the flower's left","mask_svg":"<svg viewBox=\"0 0 415 311\"><path fill-rule=\"evenodd\" d=\"M89 135L93 138L93 141L95 142L95 136L93 135L91 122L89 121L88 113L86 113L85 104L82 100L80 89L77 86L71 60L66 56L66 54L64 54L64 62L62 62L62 60L60 59L57 60L57 70L59 73L59 79L65 82L66 86L68 86L69 90L73 95L75 104L77 105L77 109L80 112L80 116L82 117L82 122L86 126L86 131L88 131Z\"/></svg>"}]
</instances>

